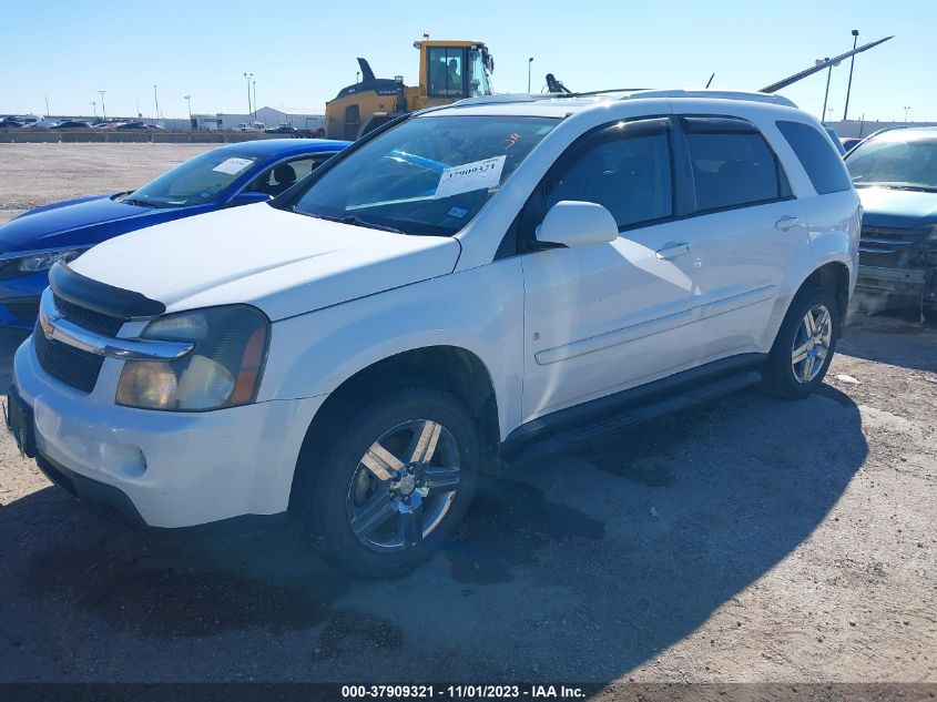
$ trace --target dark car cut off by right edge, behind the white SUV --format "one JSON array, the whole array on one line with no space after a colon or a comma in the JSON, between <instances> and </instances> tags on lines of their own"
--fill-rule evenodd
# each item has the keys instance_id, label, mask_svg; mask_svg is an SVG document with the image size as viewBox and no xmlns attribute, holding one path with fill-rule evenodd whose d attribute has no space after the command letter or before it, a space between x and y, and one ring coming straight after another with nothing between
<instances>
[{"instance_id":1,"label":"dark car cut off by right edge, behind the white SUV","mask_svg":"<svg viewBox=\"0 0 937 702\"><path fill-rule=\"evenodd\" d=\"M864 210L858 289L937 308L937 128L879 132L846 167Z\"/></svg>"}]
</instances>

